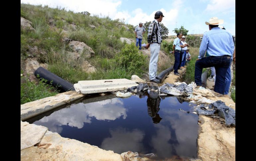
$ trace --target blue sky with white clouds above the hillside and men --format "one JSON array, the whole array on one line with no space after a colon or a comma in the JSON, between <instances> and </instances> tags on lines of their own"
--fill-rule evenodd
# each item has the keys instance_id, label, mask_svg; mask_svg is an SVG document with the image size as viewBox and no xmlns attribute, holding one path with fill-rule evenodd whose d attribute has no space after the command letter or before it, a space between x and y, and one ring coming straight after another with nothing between
<instances>
[{"instance_id":1,"label":"blue sky with white clouds above the hillside and men","mask_svg":"<svg viewBox=\"0 0 256 161\"><path fill-rule=\"evenodd\" d=\"M205 21L217 17L224 20L221 26L235 35L235 0L21 0L21 3L88 11L99 17L124 19L126 24L134 26L153 21L155 12L160 10L169 35L175 35L173 30L181 26L189 30L188 34L203 34L209 31Z\"/></svg>"}]
</instances>

